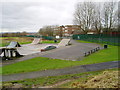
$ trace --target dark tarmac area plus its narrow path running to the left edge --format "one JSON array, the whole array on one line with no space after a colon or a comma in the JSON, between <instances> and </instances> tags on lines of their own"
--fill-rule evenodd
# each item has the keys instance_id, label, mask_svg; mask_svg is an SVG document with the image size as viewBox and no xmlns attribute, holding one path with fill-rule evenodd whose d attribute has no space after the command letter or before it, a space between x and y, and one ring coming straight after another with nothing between
<instances>
[{"instance_id":1,"label":"dark tarmac area plus its narrow path running to the left edge","mask_svg":"<svg viewBox=\"0 0 120 90\"><path fill-rule=\"evenodd\" d=\"M35 57L49 57L49 58L63 59L63 60L81 60L82 58L84 58L84 52L87 52L98 46L100 47L100 49L103 49L103 47L94 43L78 43L75 40L72 40L71 43L72 45L70 46L64 46L54 50L42 52L42 53L26 55L16 60L4 61L2 62L2 65L4 66L4 65L16 63L19 61L35 58Z\"/></svg>"}]
</instances>

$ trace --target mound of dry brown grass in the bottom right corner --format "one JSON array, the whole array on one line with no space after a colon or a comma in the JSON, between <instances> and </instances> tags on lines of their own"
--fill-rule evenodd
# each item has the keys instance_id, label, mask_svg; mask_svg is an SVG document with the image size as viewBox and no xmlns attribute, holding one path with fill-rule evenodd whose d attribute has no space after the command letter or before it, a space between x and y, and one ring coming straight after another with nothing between
<instances>
[{"instance_id":1,"label":"mound of dry brown grass in the bottom right corner","mask_svg":"<svg viewBox=\"0 0 120 90\"><path fill-rule=\"evenodd\" d=\"M118 88L118 72L119 71L104 71L102 74L92 77L87 81L74 82L72 88Z\"/></svg>"}]
</instances>

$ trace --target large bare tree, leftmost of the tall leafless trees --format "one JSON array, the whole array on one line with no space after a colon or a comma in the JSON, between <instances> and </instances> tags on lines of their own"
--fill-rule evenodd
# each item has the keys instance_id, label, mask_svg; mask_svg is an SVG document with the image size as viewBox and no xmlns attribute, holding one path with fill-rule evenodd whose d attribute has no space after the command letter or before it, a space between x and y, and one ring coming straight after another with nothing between
<instances>
[{"instance_id":1,"label":"large bare tree, leftmost of the tall leafless trees","mask_svg":"<svg viewBox=\"0 0 120 90\"><path fill-rule=\"evenodd\" d=\"M95 13L94 6L94 3L92 2L83 2L77 4L74 14L74 23L81 25L81 30L84 33L87 33L93 26L93 15Z\"/></svg>"}]
</instances>

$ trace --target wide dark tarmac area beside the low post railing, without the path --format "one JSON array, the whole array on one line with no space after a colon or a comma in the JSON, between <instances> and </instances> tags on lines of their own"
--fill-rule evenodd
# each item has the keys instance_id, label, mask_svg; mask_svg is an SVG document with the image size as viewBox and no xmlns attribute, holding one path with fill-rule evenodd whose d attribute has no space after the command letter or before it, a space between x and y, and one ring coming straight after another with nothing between
<instances>
[{"instance_id":1,"label":"wide dark tarmac area beside the low post railing, without the path","mask_svg":"<svg viewBox=\"0 0 120 90\"><path fill-rule=\"evenodd\" d=\"M103 49L102 46L93 43L77 43L72 40L73 45L66 46L63 49L59 49L52 53L46 53L41 55L41 57L49 57L53 59L62 59L62 60L82 60L84 58L84 53L88 52L92 49L100 47Z\"/></svg>"}]
</instances>

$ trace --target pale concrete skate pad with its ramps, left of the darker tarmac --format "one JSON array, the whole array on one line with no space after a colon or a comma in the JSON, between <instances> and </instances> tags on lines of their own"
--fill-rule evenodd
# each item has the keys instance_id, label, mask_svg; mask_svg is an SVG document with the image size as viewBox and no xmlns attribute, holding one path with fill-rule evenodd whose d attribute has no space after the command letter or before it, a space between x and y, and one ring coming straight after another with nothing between
<instances>
[{"instance_id":1,"label":"pale concrete skate pad with its ramps, left of the darker tarmac","mask_svg":"<svg viewBox=\"0 0 120 90\"><path fill-rule=\"evenodd\" d=\"M54 45L56 47L62 47L62 46L66 46L69 43L69 41L70 39L63 39L59 44L40 44L41 38L34 38L31 44L24 44L24 45L20 45L18 42L11 41L8 46L1 47L1 54L3 54L2 53L4 51L3 49L11 49L11 50L16 49L17 53L19 53L20 55L30 55L30 54L41 52L40 51L41 48L45 47L46 45ZM5 53L6 52L4 52L4 55Z\"/></svg>"}]
</instances>

